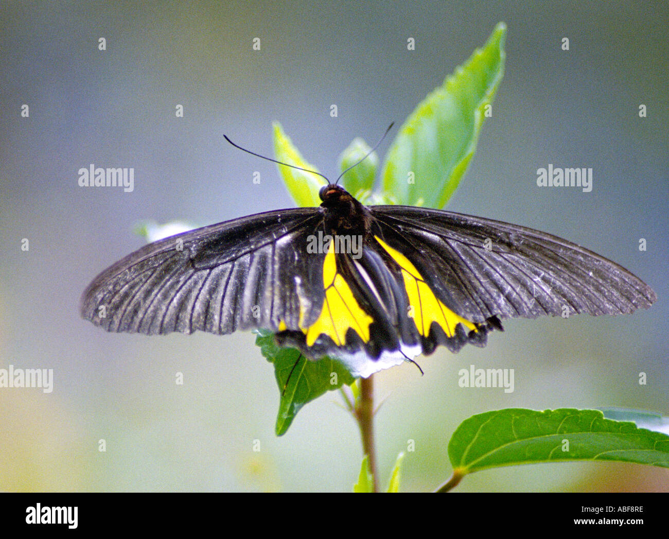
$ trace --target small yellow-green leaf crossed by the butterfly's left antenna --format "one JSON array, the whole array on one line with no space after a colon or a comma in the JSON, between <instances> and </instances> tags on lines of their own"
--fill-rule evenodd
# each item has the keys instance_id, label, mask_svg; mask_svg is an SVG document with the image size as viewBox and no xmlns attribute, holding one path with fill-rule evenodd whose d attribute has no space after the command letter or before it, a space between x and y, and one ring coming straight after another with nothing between
<instances>
[{"instance_id":1,"label":"small yellow-green leaf crossed by the butterfly's left antenna","mask_svg":"<svg viewBox=\"0 0 669 539\"><path fill-rule=\"evenodd\" d=\"M292 141L288 138L288 135L284 133L281 124L274 122L273 126L274 155L276 155L277 161L283 161L284 163L289 163L296 167L318 172L318 169L314 167L314 165L310 165L310 163L304 160L300 151L294 147ZM320 198L318 198L318 191L320 190L320 187L326 183L322 177L291 167L286 167L285 165L276 166L279 169L281 177L284 179L284 183L286 183L288 192L298 206L320 206L321 201Z\"/></svg>"}]
</instances>

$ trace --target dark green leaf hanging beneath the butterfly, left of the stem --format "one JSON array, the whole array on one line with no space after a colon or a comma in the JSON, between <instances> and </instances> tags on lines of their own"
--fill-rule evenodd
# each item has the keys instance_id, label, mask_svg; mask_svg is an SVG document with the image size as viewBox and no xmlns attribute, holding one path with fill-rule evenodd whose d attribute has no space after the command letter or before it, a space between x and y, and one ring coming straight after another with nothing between
<instances>
[{"instance_id":1,"label":"dark green leaf hanging beneath the butterfly, left of the stem","mask_svg":"<svg viewBox=\"0 0 669 539\"><path fill-rule=\"evenodd\" d=\"M256 345L260 346L262 355L274 364L274 375L281 395L274 429L277 436L288 431L304 404L325 392L341 388L343 384L353 384L355 380L337 360L323 358L311 361L295 348L280 348L272 333L258 331Z\"/></svg>"}]
</instances>

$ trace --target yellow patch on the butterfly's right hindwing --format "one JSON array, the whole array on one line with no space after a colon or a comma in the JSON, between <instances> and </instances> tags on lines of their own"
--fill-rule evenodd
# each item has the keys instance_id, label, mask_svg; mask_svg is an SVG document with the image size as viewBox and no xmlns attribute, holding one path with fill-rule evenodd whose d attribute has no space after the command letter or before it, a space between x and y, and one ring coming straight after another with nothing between
<instances>
[{"instance_id":1,"label":"yellow patch on the butterfly's right hindwing","mask_svg":"<svg viewBox=\"0 0 669 539\"><path fill-rule=\"evenodd\" d=\"M409 297L409 306L411 311L413 311L413 321L418 329L418 333L423 335L423 337L427 337L432 322L438 323L448 337L455 335L458 323L461 323L470 330L473 329L476 331L474 323L451 311L434 295L432 289L425 283L423 276L420 275L416 267L411 264L411 261L406 256L383 242L381 238L374 237L401 268L402 277L404 278L404 288Z\"/></svg>"}]
</instances>

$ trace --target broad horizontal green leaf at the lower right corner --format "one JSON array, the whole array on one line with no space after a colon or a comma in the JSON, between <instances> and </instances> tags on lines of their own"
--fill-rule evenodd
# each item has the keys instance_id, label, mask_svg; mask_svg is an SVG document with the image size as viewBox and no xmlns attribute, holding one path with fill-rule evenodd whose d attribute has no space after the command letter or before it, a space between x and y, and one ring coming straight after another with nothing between
<instances>
[{"instance_id":1,"label":"broad horizontal green leaf at the lower right corner","mask_svg":"<svg viewBox=\"0 0 669 539\"><path fill-rule=\"evenodd\" d=\"M669 467L669 436L600 410L508 408L464 420L448 444L462 475L486 468L565 461L622 461Z\"/></svg>"}]
</instances>

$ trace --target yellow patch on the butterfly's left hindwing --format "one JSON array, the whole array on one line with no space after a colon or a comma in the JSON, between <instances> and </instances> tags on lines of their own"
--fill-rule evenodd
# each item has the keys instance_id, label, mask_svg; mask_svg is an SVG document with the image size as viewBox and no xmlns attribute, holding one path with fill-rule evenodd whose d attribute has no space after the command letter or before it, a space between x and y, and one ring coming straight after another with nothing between
<instances>
[{"instance_id":1,"label":"yellow patch on the butterfly's left hindwing","mask_svg":"<svg viewBox=\"0 0 669 539\"><path fill-rule=\"evenodd\" d=\"M325 297L318 319L309 327L302 327L300 319L300 329L306 335L306 345L312 346L319 335L327 335L335 344L341 346L346 343L346 332L349 327L352 327L364 342L369 341L369 325L374 320L363 311L351 287L341 273L337 272L334 242L330 242L330 248L323 262L323 288Z\"/></svg>"}]
</instances>

